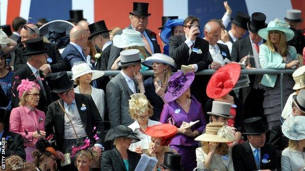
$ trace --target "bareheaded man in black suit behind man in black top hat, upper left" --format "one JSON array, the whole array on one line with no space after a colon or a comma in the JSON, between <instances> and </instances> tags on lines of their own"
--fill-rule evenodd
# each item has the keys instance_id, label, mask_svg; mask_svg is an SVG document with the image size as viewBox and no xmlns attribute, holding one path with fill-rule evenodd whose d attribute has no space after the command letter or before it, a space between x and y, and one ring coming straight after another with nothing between
<instances>
[{"instance_id":1,"label":"bareheaded man in black suit behind man in black top hat, upper left","mask_svg":"<svg viewBox=\"0 0 305 171\"><path fill-rule=\"evenodd\" d=\"M26 24L22 27L20 35L22 43L20 43L15 49L15 71L20 70L24 65L26 65L27 58L24 55L24 52L26 50L25 41L33 38L40 38L40 31L36 25ZM48 60L47 63L45 63L39 68L39 70L44 72L44 74L65 71L66 64L58 51L57 45L44 42L44 46L48 49L48 51L46 52Z\"/></svg>"}]
</instances>

